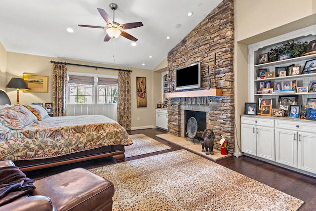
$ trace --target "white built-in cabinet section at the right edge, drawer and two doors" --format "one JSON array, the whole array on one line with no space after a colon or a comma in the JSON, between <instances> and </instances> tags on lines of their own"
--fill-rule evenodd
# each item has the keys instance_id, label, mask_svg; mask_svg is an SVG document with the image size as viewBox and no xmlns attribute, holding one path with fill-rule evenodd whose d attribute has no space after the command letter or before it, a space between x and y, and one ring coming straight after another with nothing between
<instances>
[{"instance_id":1,"label":"white built-in cabinet section at the right edge, drawer and two doors","mask_svg":"<svg viewBox=\"0 0 316 211\"><path fill-rule=\"evenodd\" d=\"M276 162L316 173L316 122L276 120Z\"/></svg>"}]
</instances>

